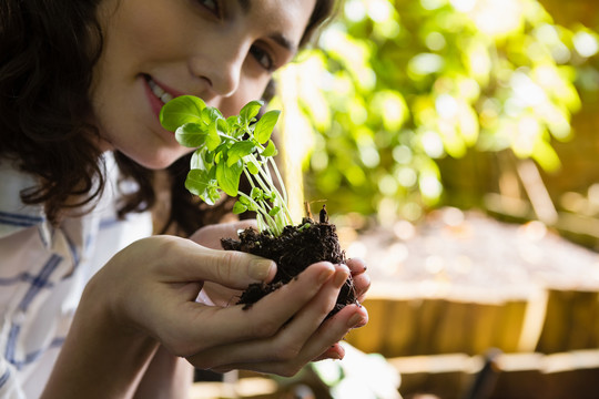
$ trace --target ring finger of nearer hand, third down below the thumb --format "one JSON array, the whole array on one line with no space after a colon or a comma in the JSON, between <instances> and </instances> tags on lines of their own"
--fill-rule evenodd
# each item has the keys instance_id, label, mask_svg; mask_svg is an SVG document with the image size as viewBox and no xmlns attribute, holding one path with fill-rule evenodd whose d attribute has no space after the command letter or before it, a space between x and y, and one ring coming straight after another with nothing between
<instances>
[{"instance_id":1,"label":"ring finger of nearer hand, third down below the thumb","mask_svg":"<svg viewBox=\"0 0 599 399\"><path fill-rule=\"evenodd\" d=\"M306 342L297 356L281 361L240 362L213 367L215 371L232 369L248 369L258 372L276 374L292 377L312 359L325 352L335 342L347 335L355 326L367 323L368 315L363 307L349 305L344 307L334 317L326 320L313 337Z\"/></svg>"}]
</instances>

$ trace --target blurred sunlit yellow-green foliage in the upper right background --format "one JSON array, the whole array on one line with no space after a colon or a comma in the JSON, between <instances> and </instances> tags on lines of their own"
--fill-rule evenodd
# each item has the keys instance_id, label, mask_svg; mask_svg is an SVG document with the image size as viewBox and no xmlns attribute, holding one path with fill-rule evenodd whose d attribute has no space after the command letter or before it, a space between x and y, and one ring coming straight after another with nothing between
<instances>
[{"instance_id":1,"label":"blurred sunlit yellow-green foliage in the upper right background","mask_svg":"<svg viewBox=\"0 0 599 399\"><path fill-rule=\"evenodd\" d=\"M314 132L306 198L416 221L443 204L444 157L511 151L559 170L598 42L536 0L345 1L282 82Z\"/></svg>"}]
</instances>

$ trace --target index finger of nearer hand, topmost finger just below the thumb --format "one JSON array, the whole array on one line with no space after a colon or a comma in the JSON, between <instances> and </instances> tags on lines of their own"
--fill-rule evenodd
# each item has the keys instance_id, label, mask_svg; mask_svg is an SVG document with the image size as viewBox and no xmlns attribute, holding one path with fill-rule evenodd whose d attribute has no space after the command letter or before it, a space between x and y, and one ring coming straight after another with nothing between
<instances>
[{"instance_id":1,"label":"index finger of nearer hand, topmost finger just below the thumb","mask_svg":"<svg viewBox=\"0 0 599 399\"><path fill-rule=\"evenodd\" d=\"M221 308L187 304L173 315L173 328L184 335L180 340L185 354L180 355L191 356L217 345L274 336L314 298L334 273L335 268L329 263L311 265L297 278L245 310L241 305Z\"/></svg>"}]
</instances>

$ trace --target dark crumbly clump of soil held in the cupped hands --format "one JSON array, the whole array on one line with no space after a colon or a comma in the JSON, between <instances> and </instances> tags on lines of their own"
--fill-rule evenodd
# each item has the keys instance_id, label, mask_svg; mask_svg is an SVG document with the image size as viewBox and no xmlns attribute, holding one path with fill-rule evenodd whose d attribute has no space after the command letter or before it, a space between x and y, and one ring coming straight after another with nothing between
<instances>
[{"instance_id":1,"label":"dark crumbly clump of soil held in the cupped hands","mask_svg":"<svg viewBox=\"0 0 599 399\"><path fill-rule=\"evenodd\" d=\"M334 224L316 223L304 218L297 226L286 226L278 237L270 233L258 233L246 228L238 234L240 239L223 238L221 244L227 250L241 250L273 259L277 265L274 279L250 285L237 304L248 308L258 299L290 283L309 265L327 260L332 264L345 264L345 252L342 250ZM357 303L354 283L349 276L342 287L335 308L327 317L339 311L345 305Z\"/></svg>"}]
</instances>

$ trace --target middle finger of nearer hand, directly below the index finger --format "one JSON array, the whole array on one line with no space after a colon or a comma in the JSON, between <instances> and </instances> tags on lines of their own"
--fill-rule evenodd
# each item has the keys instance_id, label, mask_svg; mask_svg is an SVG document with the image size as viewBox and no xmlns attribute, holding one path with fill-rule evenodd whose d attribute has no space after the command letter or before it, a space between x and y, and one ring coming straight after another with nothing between
<instances>
[{"instance_id":1,"label":"middle finger of nearer hand, directly below the index finger","mask_svg":"<svg viewBox=\"0 0 599 399\"><path fill-rule=\"evenodd\" d=\"M209 366L216 362L233 364L295 358L334 308L339 288L348 276L349 269L345 265L337 265L335 275L275 336L256 340L252 345L247 345L247 342L230 345L226 352L223 352L221 348L207 350L199 356L201 359L197 361Z\"/></svg>"}]
</instances>

